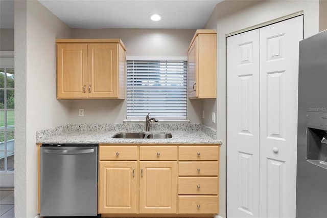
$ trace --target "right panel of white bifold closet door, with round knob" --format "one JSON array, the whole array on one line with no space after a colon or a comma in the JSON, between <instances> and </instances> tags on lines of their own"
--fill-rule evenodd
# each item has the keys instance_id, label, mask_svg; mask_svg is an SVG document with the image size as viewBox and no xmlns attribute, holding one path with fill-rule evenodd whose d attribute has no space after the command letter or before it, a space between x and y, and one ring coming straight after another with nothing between
<instances>
[{"instance_id":1,"label":"right panel of white bifold closet door, with round knob","mask_svg":"<svg viewBox=\"0 0 327 218\"><path fill-rule=\"evenodd\" d=\"M259 217L295 217L302 16L260 29Z\"/></svg>"}]
</instances>

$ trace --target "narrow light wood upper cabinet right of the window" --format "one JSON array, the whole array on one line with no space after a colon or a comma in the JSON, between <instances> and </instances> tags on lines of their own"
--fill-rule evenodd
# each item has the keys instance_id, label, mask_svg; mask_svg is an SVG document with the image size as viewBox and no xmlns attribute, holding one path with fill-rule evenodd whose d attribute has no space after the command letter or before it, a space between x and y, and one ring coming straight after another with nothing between
<instances>
[{"instance_id":1,"label":"narrow light wood upper cabinet right of the window","mask_svg":"<svg viewBox=\"0 0 327 218\"><path fill-rule=\"evenodd\" d=\"M188 53L188 96L217 98L216 30L197 30Z\"/></svg>"}]
</instances>

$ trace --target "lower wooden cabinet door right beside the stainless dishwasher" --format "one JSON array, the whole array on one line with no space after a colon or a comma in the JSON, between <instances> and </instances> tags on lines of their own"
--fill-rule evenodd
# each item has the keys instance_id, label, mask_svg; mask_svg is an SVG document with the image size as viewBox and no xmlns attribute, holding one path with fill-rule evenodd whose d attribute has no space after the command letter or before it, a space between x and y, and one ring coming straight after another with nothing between
<instances>
[{"instance_id":1,"label":"lower wooden cabinet door right beside the stainless dishwasher","mask_svg":"<svg viewBox=\"0 0 327 218\"><path fill-rule=\"evenodd\" d=\"M99 162L99 213L136 213L136 161Z\"/></svg>"}]
</instances>

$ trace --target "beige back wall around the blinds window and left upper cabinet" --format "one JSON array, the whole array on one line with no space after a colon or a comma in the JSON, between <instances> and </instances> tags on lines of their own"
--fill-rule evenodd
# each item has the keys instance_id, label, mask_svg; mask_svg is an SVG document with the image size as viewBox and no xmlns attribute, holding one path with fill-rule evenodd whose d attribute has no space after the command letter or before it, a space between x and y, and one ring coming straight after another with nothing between
<instances>
[{"instance_id":1,"label":"beige back wall around the blinds window and left upper cabinet","mask_svg":"<svg viewBox=\"0 0 327 218\"><path fill-rule=\"evenodd\" d=\"M73 29L72 38L121 38L127 56L188 56L196 30L176 29ZM66 101L66 100L62 100ZM84 108L84 117L78 116ZM126 100L72 100L72 123L122 123ZM188 119L202 123L202 101L188 100Z\"/></svg>"}]
</instances>

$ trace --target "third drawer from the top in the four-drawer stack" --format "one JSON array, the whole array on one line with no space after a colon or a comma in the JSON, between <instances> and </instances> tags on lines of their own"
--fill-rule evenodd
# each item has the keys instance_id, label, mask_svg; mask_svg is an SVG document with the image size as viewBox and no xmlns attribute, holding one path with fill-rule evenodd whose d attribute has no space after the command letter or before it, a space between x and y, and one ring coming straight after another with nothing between
<instances>
[{"instance_id":1,"label":"third drawer from the top in the four-drawer stack","mask_svg":"<svg viewBox=\"0 0 327 218\"><path fill-rule=\"evenodd\" d=\"M218 194L218 177L179 177L178 194Z\"/></svg>"}]
</instances>

